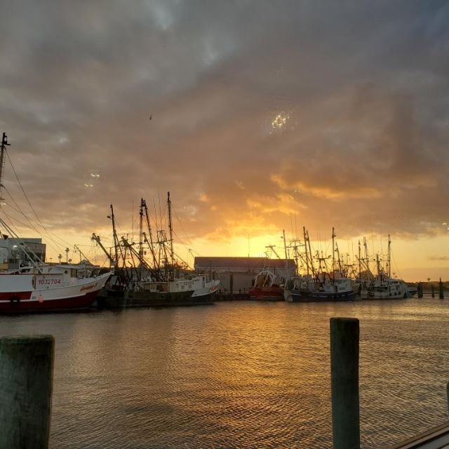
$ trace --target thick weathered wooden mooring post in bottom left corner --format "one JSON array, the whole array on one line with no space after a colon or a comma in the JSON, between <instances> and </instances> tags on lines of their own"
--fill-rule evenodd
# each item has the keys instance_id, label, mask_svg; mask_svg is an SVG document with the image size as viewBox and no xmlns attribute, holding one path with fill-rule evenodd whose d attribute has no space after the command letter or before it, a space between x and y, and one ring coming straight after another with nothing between
<instances>
[{"instance_id":1,"label":"thick weathered wooden mooring post in bottom left corner","mask_svg":"<svg viewBox=\"0 0 449 449\"><path fill-rule=\"evenodd\" d=\"M0 338L0 448L47 449L55 340Z\"/></svg>"}]
</instances>

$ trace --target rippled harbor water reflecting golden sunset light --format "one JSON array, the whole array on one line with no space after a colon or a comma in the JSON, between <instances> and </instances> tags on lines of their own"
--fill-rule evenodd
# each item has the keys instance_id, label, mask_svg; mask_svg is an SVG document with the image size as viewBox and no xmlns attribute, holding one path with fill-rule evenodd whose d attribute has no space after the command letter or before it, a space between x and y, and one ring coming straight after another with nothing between
<instances>
[{"instance_id":1,"label":"rippled harbor water reflecting golden sunset light","mask_svg":"<svg viewBox=\"0 0 449 449\"><path fill-rule=\"evenodd\" d=\"M55 336L51 448L331 448L329 319L361 323L363 448L448 419L449 300L1 316Z\"/></svg>"}]
</instances>

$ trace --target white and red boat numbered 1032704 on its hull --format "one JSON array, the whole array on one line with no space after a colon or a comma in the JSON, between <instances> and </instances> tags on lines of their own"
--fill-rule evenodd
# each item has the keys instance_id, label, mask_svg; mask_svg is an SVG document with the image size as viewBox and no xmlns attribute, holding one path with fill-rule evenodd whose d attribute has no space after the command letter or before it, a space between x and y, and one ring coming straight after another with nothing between
<instances>
[{"instance_id":1,"label":"white and red boat numbered 1032704 on its hull","mask_svg":"<svg viewBox=\"0 0 449 449\"><path fill-rule=\"evenodd\" d=\"M0 147L0 189L3 181L4 153L8 140L3 133ZM1 196L1 195L0 195ZM10 234L13 229L0 217L0 225ZM1 239L6 239L1 234ZM29 257L24 248L24 253ZM79 279L74 265L34 262L0 272L0 313L18 314L39 311L88 309L110 273Z\"/></svg>"}]
</instances>

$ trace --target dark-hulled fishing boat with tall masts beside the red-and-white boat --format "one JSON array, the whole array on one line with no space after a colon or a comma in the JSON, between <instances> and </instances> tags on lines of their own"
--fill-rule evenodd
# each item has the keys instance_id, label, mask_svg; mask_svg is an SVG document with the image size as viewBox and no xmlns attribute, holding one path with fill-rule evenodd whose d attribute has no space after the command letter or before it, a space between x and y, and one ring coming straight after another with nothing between
<instances>
[{"instance_id":1,"label":"dark-hulled fishing boat with tall masts beside the red-and-white boat","mask_svg":"<svg viewBox=\"0 0 449 449\"><path fill-rule=\"evenodd\" d=\"M136 245L122 237L118 239L114 208L111 205L114 255L102 246L100 237L93 234L115 267L115 274L98 295L99 307L163 307L210 304L217 293L220 281L213 273L193 273L175 260L170 192L167 195L168 234L159 229L153 236L147 203L140 201L140 232ZM161 220L159 220L160 222ZM147 231L145 232L145 226ZM149 253L149 260L145 255ZM126 264L128 261L128 264ZM130 261L135 262L131 263Z\"/></svg>"}]
</instances>

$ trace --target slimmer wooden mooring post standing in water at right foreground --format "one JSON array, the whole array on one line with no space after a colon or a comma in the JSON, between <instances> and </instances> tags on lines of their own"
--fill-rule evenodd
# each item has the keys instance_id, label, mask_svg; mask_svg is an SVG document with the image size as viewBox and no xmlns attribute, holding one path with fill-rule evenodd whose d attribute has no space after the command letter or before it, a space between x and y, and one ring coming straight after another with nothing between
<instances>
[{"instance_id":1,"label":"slimmer wooden mooring post standing in water at right foreground","mask_svg":"<svg viewBox=\"0 0 449 449\"><path fill-rule=\"evenodd\" d=\"M360 449L358 319L330 319L333 449Z\"/></svg>"}]
</instances>

